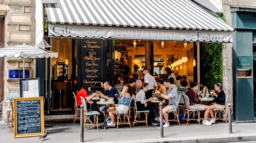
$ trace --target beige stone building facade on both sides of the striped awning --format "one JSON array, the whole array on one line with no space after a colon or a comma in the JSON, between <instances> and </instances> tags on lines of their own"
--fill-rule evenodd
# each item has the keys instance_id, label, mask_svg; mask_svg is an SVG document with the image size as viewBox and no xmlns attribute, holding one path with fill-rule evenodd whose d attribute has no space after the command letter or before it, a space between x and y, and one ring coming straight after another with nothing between
<instances>
[{"instance_id":1,"label":"beige stone building facade on both sides of the striped awning","mask_svg":"<svg viewBox=\"0 0 256 143\"><path fill-rule=\"evenodd\" d=\"M222 7L226 23L232 25L231 7L244 7L254 11L255 0L215 0ZM35 1L34 0L0 0L0 21L2 47L19 45L35 45ZM256 27L255 27L256 29ZM234 40L233 40L234 41ZM223 86L229 94L228 103L233 108L233 73L232 63L234 57L231 43L223 44ZM19 93L19 79L9 79L8 70L22 69L22 58L0 58L0 99L6 100L6 95L11 92ZM4 65L4 66L3 66ZM30 77L35 77L35 59L25 59L25 69L30 69ZM3 111L7 105L3 104ZM5 118L5 116L4 116Z\"/></svg>"}]
</instances>

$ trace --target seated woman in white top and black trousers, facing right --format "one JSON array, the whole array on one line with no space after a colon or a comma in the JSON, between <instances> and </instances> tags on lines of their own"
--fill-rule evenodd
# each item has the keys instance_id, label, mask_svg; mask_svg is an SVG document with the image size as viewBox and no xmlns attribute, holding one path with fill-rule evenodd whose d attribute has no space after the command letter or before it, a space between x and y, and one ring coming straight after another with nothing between
<instances>
[{"instance_id":1,"label":"seated woman in white top and black trousers, facing right","mask_svg":"<svg viewBox=\"0 0 256 143\"><path fill-rule=\"evenodd\" d=\"M141 85L140 91L136 94L136 105L138 111L149 110L148 113L148 122L150 126L159 126L158 123L155 123L154 119L157 118L158 111L155 104L147 104L148 101L153 100L153 97L150 97L146 100L145 92L148 91L148 84L143 83Z\"/></svg>"}]
</instances>

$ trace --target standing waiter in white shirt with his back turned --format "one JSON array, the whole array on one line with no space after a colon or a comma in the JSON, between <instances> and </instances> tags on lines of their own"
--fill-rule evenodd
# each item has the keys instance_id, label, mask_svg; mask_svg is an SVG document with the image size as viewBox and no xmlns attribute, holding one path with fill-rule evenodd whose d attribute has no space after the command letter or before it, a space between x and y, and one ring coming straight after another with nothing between
<instances>
[{"instance_id":1,"label":"standing waiter in white shirt with his back turned","mask_svg":"<svg viewBox=\"0 0 256 143\"><path fill-rule=\"evenodd\" d=\"M146 91L145 96L146 99L149 99L150 97L152 97L152 92L154 92L155 87L157 87L157 83L156 80L154 78L154 76L150 75L148 73L148 69L143 69L143 74L144 76L144 83L148 84L148 91Z\"/></svg>"}]
</instances>

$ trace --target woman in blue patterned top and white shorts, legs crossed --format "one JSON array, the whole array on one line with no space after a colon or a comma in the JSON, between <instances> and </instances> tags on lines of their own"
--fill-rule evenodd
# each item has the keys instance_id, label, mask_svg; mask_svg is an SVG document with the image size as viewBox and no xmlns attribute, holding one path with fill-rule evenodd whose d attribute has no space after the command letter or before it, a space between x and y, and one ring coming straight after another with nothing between
<instances>
[{"instance_id":1,"label":"woman in blue patterned top and white shorts, legs crossed","mask_svg":"<svg viewBox=\"0 0 256 143\"><path fill-rule=\"evenodd\" d=\"M132 94L133 89L132 86L129 84L125 84L123 86L123 91L121 92L122 97L120 98L119 102L117 104L111 104L109 105L109 108L107 109L109 116L111 118L111 122L107 123L110 127L115 127L115 117L114 115L116 113L127 113L129 110L129 106L132 100Z\"/></svg>"}]
</instances>

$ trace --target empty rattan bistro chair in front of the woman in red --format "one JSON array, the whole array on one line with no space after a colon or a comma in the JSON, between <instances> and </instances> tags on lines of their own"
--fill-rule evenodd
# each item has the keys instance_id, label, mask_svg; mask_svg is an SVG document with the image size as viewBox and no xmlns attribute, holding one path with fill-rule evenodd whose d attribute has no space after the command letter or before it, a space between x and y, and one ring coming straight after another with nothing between
<instances>
[{"instance_id":1,"label":"empty rattan bistro chair in front of the woman in red","mask_svg":"<svg viewBox=\"0 0 256 143\"><path fill-rule=\"evenodd\" d=\"M87 112L87 106L86 106L86 100L81 97L81 102L84 105L84 127L88 126L88 125L94 125L97 126L97 130L99 130L99 126L98 126L98 115L100 114L98 111L90 111ZM94 117L94 123L90 123L88 120L88 118L90 118L90 116Z\"/></svg>"}]
</instances>

